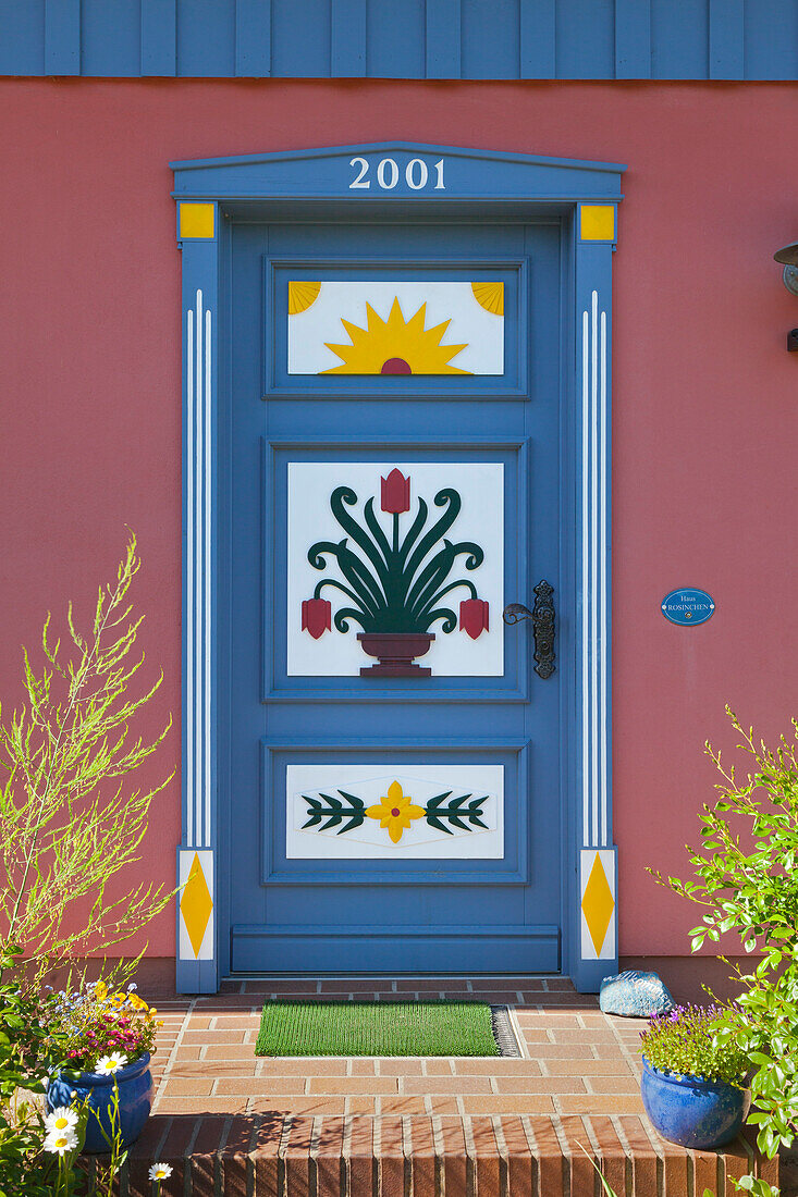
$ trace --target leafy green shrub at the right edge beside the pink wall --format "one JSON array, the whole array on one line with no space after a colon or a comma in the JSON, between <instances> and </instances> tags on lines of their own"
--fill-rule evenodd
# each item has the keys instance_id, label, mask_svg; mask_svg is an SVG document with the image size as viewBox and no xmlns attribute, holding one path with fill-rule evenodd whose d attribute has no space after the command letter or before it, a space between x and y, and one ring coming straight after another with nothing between
<instances>
[{"instance_id":1,"label":"leafy green shrub at the right edge beside the pink wall","mask_svg":"<svg viewBox=\"0 0 798 1197\"><path fill-rule=\"evenodd\" d=\"M751 765L738 776L707 745L721 773L719 798L700 816L701 846L688 847L695 880L653 875L703 906L690 932L693 950L736 931L756 965L743 973L733 1025L715 1032L719 1049L732 1041L751 1067L760 1150L774 1156L798 1131L798 721L793 739L775 748L756 742L727 707ZM725 958L723 958L725 959Z\"/></svg>"}]
</instances>

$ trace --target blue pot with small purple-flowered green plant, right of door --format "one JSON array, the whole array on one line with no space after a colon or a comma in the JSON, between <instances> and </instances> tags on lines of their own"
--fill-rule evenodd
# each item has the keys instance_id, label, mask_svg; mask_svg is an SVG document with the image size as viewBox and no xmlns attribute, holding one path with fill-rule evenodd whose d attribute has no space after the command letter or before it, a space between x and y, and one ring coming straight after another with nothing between
<instances>
[{"instance_id":1,"label":"blue pot with small purple-flowered green plant, right of door","mask_svg":"<svg viewBox=\"0 0 798 1197\"><path fill-rule=\"evenodd\" d=\"M739 1132L751 1101L749 1062L733 1035L718 1037L736 1017L733 1007L678 1005L641 1033L641 1095L663 1138L705 1149Z\"/></svg>"}]
</instances>

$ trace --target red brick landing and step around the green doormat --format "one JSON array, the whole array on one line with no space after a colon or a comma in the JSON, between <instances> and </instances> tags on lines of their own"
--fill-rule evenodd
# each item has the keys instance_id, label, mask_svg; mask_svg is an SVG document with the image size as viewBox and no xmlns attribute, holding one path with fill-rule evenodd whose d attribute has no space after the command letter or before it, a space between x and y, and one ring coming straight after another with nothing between
<instances>
[{"instance_id":1,"label":"red brick landing and step around the green doormat","mask_svg":"<svg viewBox=\"0 0 798 1197\"><path fill-rule=\"evenodd\" d=\"M258 1058L268 997L472 997L510 1008L522 1058ZM640 1023L603 1015L563 978L322 978L228 982L158 1003L157 1095L131 1150L129 1197L150 1163L163 1197L717 1197L755 1167L665 1143L640 1100ZM125 1181L123 1181L125 1184Z\"/></svg>"}]
</instances>

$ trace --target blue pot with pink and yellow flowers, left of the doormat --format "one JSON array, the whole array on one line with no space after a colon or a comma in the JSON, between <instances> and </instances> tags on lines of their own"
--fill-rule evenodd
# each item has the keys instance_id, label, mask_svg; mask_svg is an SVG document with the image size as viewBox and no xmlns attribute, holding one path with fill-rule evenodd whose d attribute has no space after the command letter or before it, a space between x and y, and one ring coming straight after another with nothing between
<instances>
[{"instance_id":1,"label":"blue pot with pink and yellow flowers, left of the doormat","mask_svg":"<svg viewBox=\"0 0 798 1197\"><path fill-rule=\"evenodd\" d=\"M65 1064L50 1078L47 1105L54 1111L85 1104L84 1150L89 1153L107 1152L116 1132L121 1146L128 1147L152 1108L150 1058L162 1023L155 1007L134 989L111 994L98 982L59 995L52 1035Z\"/></svg>"}]
</instances>

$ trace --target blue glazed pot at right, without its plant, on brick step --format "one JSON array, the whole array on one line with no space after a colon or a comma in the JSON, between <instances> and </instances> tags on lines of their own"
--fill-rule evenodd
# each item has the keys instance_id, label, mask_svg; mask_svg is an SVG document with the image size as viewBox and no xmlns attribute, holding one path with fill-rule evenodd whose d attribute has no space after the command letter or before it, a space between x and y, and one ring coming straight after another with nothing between
<instances>
[{"instance_id":1,"label":"blue glazed pot at right, without its plant, on brick step","mask_svg":"<svg viewBox=\"0 0 798 1197\"><path fill-rule=\"evenodd\" d=\"M655 1130L682 1147L713 1148L729 1143L745 1120L751 1094L725 1081L660 1073L643 1057L640 1092Z\"/></svg>"}]
</instances>

